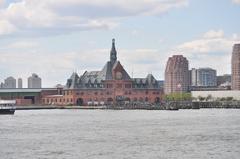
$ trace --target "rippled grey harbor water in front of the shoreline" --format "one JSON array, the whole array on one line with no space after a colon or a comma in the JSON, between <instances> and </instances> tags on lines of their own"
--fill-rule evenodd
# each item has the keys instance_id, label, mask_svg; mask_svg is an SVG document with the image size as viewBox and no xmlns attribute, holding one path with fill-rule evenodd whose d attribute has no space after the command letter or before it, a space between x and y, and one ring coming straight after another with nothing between
<instances>
[{"instance_id":1,"label":"rippled grey harbor water in front of the shoreline","mask_svg":"<svg viewBox=\"0 0 240 159\"><path fill-rule=\"evenodd\" d=\"M240 110L18 110L1 159L238 159Z\"/></svg>"}]
</instances>

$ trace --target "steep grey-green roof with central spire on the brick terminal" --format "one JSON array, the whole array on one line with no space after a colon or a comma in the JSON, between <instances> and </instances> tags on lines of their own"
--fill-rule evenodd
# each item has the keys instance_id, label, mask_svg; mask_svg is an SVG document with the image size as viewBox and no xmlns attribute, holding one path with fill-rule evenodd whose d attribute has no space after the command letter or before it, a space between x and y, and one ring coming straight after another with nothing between
<instances>
[{"instance_id":1,"label":"steep grey-green roof with central spire on the brick terminal","mask_svg":"<svg viewBox=\"0 0 240 159\"><path fill-rule=\"evenodd\" d=\"M108 61L101 71L85 71L80 77L74 72L67 80L65 88L102 88L103 81L113 80L113 73L121 70L122 80L129 80L133 82L136 88L156 88L158 87L157 80L152 74L147 75L146 78L132 79L121 63L117 61L117 51L115 48L115 40L112 40L112 48L110 51L110 61Z\"/></svg>"}]
</instances>

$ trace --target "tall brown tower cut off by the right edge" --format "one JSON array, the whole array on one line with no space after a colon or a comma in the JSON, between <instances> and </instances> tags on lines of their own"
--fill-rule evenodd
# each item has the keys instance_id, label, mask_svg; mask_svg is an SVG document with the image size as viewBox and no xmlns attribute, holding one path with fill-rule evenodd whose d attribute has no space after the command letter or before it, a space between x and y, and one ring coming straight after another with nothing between
<instances>
[{"instance_id":1,"label":"tall brown tower cut off by the right edge","mask_svg":"<svg viewBox=\"0 0 240 159\"><path fill-rule=\"evenodd\" d=\"M233 46L232 52L232 89L240 90L240 44Z\"/></svg>"}]
</instances>

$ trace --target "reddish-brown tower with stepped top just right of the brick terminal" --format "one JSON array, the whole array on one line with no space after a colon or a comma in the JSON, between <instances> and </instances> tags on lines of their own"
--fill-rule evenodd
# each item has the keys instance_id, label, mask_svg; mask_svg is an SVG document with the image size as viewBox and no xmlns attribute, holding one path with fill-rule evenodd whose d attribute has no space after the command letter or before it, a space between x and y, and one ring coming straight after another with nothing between
<instances>
[{"instance_id":1,"label":"reddish-brown tower with stepped top just right of the brick terminal","mask_svg":"<svg viewBox=\"0 0 240 159\"><path fill-rule=\"evenodd\" d=\"M165 94L187 92L189 83L188 60L182 55L169 57L165 69Z\"/></svg>"}]
</instances>

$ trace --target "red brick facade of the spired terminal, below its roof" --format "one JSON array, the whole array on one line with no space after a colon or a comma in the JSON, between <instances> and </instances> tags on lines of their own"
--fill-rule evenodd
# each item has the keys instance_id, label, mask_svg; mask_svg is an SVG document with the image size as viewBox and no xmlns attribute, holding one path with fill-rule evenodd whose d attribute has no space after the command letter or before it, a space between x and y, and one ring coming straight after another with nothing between
<instances>
[{"instance_id":1,"label":"red brick facade of the spired terminal, below its roof","mask_svg":"<svg viewBox=\"0 0 240 159\"><path fill-rule=\"evenodd\" d=\"M103 88L91 89L64 89L62 95L45 96L43 104L54 105L106 105L115 104L118 98L129 102L160 102L162 89L133 88L132 80L118 80L117 72L122 72L121 64L113 69L114 79L103 82Z\"/></svg>"}]
</instances>

